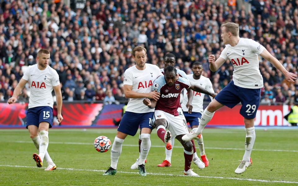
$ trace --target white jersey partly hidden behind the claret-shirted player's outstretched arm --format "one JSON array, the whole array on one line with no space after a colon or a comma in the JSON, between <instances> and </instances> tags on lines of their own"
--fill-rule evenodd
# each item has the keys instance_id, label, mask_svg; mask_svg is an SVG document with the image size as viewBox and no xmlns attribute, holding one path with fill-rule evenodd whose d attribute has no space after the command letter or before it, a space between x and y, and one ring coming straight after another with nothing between
<instances>
[{"instance_id":1,"label":"white jersey partly hidden behind the claret-shirted player's outstretched arm","mask_svg":"<svg viewBox=\"0 0 298 186\"><path fill-rule=\"evenodd\" d=\"M210 91L210 92L214 93L214 90L212 88L212 83L211 83L209 78L206 78L206 77L201 75L200 79L194 79L193 74L188 74L187 79L192 84L195 84L197 86L201 86L201 87L205 88L207 91ZM192 99L192 107L193 108L192 108L192 112L203 113L203 111L204 111L203 110L204 96L205 96L205 94L203 94L203 93L193 91L193 99ZM210 99L212 100L213 98L210 96ZM186 108L187 101L188 101L187 91L184 90L183 102L181 104L182 110L184 112L188 111L188 108Z\"/></svg>"}]
</instances>

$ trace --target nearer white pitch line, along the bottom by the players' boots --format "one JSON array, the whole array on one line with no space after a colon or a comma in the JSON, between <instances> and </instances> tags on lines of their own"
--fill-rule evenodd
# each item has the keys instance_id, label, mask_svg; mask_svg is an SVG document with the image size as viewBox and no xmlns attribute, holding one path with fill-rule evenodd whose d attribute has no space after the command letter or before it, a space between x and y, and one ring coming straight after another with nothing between
<instances>
[{"instance_id":1,"label":"nearer white pitch line, along the bottom by the players' boots","mask_svg":"<svg viewBox=\"0 0 298 186\"><path fill-rule=\"evenodd\" d=\"M3 167L24 167L24 168L37 168L36 166L19 166L19 165L0 165ZM106 170L96 170L96 169L73 169L73 168L60 168L60 170L76 170L76 171L93 171L93 172L106 172ZM139 174L138 172L127 172L127 171L117 171L118 173L126 173L126 174ZM174 175L174 174L162 174L162 173L149 173L148 175L162 175L162 176L183 176L186 175ZM199 178L215 178L215 179L234 179L234 180L244 180L244 181L258 181L258 182L267 182L267 183L286 183L286 184L298 184L295 181L278 181L278 180L265 180L265 179L250 179L250 178L231 178L231 177L219 177L219 176L192 176Z\"/></svg>"}]
</instances>

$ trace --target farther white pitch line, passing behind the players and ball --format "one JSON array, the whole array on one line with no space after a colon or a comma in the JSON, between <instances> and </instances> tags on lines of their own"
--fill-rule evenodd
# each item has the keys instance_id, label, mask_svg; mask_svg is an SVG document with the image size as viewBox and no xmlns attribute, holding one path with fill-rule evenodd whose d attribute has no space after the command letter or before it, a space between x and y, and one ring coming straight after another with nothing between
<instances>
[{"instance_id":1,"label":"farther white pitch line, passing behind the players and ball","mask_svg":"<svg viewBox=\"0 0 298 186\"><path fill-rule=\"evenodd\" d=\"M32 141L11 141L11 143L32 143ZM50 144L71 144L71 145L93 145L93 143L77 143L77 142L50 142ZM138 147L138 145L123 144L127 147ZM151 145L151 147L162 147L163 145ZM174 146L174 148L183 148L182 146ZM220 149L220 150L244 150L244 148L221 148L221 147L205 147L205 149ZM298 153L298 150L279 150L279 149L253 149L255 151L273 151L273 152L294 152Z\"/></svg>"}]
</instances>

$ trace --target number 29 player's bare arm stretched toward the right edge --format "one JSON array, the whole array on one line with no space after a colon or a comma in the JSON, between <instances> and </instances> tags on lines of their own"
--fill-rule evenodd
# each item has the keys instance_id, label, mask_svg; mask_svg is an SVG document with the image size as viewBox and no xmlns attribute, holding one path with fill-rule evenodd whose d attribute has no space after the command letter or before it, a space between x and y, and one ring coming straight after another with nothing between
<instances>
[{"instance_id":1,"label":"number 29 player's bare arm stretched toward the right edge","mask_svg":"<svg viewBox=\"0 0 298 186\"><path fill-rule=\"evenodd\" d=\"M295 82L295 79L297 78L297 75L294 73L290 73L288 72L283 66L282 64L278 61L278 59L276 59L275 57L273 57L273 55L271 55L269 53L269 51L267 51L267 49L265 48L263 50L263 52L260 54L260 56L262 56L263 58L265 58L266 60L268 60L271 64L273 64L278 70L280 70L283 75L285 76L286 80L289 82Z\"/></svg>"}]
</instances>

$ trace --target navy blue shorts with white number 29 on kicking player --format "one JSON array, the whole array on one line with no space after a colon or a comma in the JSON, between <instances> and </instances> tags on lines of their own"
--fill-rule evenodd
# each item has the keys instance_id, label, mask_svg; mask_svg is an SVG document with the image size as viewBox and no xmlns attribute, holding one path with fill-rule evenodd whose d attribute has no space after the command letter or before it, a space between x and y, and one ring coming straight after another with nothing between
<instances>
[{"instance_id":1,"label":"navy blue shorts with white number 29 on kicking player","mask_svg":"<svg viewBox=\"0 0 298 186\"><path fill-rule=\"evenodd\" d=\"M253 119L260 104L260 93L260 88L242 88L234 85L234 82L231 81L214 99L229 108L233 108L241 102L242 107L239 113L247 119Z\"/></svg>"}]
</instances>

